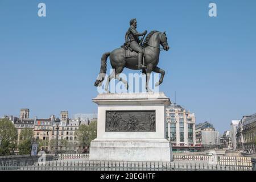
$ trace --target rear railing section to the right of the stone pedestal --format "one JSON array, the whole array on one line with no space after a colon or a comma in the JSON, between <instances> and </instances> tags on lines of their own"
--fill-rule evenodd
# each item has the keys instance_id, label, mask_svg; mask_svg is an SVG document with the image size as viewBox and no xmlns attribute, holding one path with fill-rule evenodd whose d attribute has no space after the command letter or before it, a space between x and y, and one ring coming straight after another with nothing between
<instances>
[{"instance_id":1,"label":"rear railing section to the right of the stone pedestal","mask_svg":"<svg viewBox=\"0 0 256 182\"><path fill-rule=\"evenodd\" d=\"M221 166L251 167L251 158L248 157L174 155L174 160L202 160Z\"/></svg>"}]
</instances>

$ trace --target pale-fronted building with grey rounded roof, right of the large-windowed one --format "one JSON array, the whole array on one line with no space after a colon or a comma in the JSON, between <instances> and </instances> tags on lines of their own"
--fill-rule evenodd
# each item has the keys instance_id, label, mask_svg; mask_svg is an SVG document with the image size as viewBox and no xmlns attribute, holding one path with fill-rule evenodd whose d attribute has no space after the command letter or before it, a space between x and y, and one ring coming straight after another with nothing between
<instances>
[{"instance_id":1,"label":"pale-fronted building with grey rounded roof, right of the large-windowed one","mask_svg":"<svg viewBox=\"0 0 256 182\"><path fill-rule=\"evenodd\" d=\"M218 131L209 122L196 125L196 146L202 147L202 150L212 150L220 145L220 136Z\"/></svg>"}]
</instances>

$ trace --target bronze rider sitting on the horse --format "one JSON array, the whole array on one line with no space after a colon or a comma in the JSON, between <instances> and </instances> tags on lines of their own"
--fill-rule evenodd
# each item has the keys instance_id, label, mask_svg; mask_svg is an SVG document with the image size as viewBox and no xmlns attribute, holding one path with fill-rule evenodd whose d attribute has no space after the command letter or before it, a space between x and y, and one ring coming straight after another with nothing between
<instances>
[{"instance_id":1,"label":"bronze rider sitting on the horse","mask_svg":"<svg viewBox=\"0 0 256 182\"><path fill-rule=\"evenodd\" d=\"M136 28L137 28L137 20L133 18L130 20L130 28L126 32L125 41L126 43L128 43L129 42L128 38L130 39L130 48L133 49L133 51L138 53L138 69L144 69L146 67L142 64L143 49L139 46L139 43L140 43L139 36L146 35L147 31L145 30L143 33L139 33L137 32Z\"/></svg>"}]
</instances>

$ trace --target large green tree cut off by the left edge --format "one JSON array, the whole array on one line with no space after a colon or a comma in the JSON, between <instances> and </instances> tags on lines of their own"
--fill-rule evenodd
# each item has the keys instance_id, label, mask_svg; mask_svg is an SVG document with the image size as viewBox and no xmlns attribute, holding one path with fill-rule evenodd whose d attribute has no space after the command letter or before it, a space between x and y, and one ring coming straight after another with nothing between
<instances>
[{"instance_id":1,"label":"large green tree cut off by the left edge","mask_svg":"<svg viewBox=\"0 0 256 182\"><path fill-rule=\"evenodd\" d=\"M0 155L10 155L16 148L17 130L13 123L5 118L0 119Z\"/></svg>"}]
</instances>

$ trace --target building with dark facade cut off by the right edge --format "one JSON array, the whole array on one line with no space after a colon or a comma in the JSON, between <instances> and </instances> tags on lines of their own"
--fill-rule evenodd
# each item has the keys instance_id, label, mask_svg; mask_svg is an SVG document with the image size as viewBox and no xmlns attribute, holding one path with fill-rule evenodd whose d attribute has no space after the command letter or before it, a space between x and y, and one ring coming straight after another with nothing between
<instances>
[{"instance_id":1,"label":"building with dark facade cut off by the right edge","mask_svg":"<svg viewBox=\"0 0 256 182\"><path fill-rule=\"evenodd\" d=\"M243 150L255 154L256 113L246 117L243 122Z\"/></svg>"}]
</instances>

